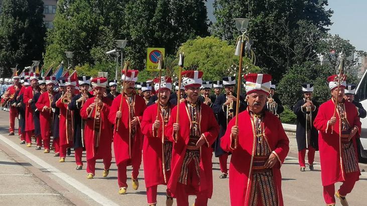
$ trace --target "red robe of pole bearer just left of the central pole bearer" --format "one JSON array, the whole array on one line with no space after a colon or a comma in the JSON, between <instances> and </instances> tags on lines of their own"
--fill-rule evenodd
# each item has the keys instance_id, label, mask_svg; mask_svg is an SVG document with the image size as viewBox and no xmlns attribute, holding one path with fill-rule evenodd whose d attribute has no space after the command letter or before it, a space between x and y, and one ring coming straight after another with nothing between
<instances>
[{"instance_id":1,"label":"red robe of pole bearer just left of the central pole bearer","mask_svg":"<svg viewBox=\"0 0 367 206\"><path fill-rule=\"evenodd\" d=\"M158 134L155 134L155 137L153 136L153 124L157 118L157 107L157 104L149 106L144 112L142 121L142 132L144 134L144 180L147 188L158 184L167 184L167 181L170 178L170 172L163 171L162 115L159 115L161 127ZM174 106L171 105L171 111L173 107ZM156 132L157 131L154 133ZM164 134L164 137L167 138L168 135Z\"/></svg>"}]
</instances>

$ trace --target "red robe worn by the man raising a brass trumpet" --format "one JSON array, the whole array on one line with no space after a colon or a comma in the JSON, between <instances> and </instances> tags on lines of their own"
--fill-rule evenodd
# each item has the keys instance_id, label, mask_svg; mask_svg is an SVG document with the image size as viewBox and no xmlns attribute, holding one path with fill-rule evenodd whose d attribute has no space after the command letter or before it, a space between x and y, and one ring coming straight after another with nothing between
<instances>
[{"instance_id":1,"label":"red robe worn by the man raising a brass trumpet","mask_svg":"<svg viewBox=\"0 0 367 206\"><path fill-rule=\"evenodd\" d=\"M60 142L59 145L61 146L69 146L71 147L73 145L73 139L70 138L70 140L67 139L66 135L66 112L67 112L67 104L64 104L62 101L62 96L56 101L56 107L60 109L60 122L59 122L59 137ZM71 118L73 119L73 111L70 112ZM71 123L73 125L73 123Z\"/></svg>"}]
</instances>

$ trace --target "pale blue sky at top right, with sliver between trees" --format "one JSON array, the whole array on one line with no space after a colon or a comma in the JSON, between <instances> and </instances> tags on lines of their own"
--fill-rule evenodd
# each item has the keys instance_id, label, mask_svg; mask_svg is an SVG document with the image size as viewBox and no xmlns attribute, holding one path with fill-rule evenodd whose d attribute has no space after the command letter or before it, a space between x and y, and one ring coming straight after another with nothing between
<instances>
[{"instance_id":1,"label":"pale blue sky at top right, with sliver between trees","mask_svg":"<svg viewBox=\"0 0 367 206\"><path fill-rule=\"evenodd\" d=\"M214 0L207 0L208 19L215 21L213 16ZM329 0L327 9L334 11L331 17L333 25L330 34L338 34L347 39L357 49L367 51L367 0Z\"/></svg>"}]
</instances>

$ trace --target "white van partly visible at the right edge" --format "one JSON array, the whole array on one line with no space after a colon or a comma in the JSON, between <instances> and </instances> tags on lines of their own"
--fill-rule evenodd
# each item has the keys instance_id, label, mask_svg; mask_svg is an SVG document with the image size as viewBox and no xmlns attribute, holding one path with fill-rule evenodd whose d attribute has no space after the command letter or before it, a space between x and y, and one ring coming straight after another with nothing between
<instances>
[{"instance_id":1,"label":"white van partly visible at the right edge","mask_svg":"<svg viewBox=\"0 0 367 206\"><path fill-rule=\"evenodd\" d=\"M367 109L367 70L360 79L355 90L356 97L359 98L360 104ZM367 118L360 119L362 123L362 131L360 134L360 144L358 144L359 162L367 163ZM359 141L357 141L359 143Z\"/></svg>"}]
</instances>

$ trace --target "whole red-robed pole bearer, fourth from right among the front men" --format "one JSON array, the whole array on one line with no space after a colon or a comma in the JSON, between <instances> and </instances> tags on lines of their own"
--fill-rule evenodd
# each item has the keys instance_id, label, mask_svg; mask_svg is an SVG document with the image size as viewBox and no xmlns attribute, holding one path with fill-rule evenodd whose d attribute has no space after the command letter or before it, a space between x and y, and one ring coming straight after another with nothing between
<instances>
[{"instance_id":1,"label":"whole red-robed pole bearer, fourth from right among the front men","mask_svg":"<svg viewBox=\"0 0 367 206\"><path fill-rule=\"evenodd\" d=\"M154 79L154 83L154 89L160 95L160 102L145 110L142 121L142 132L145 137L143 142L144 180L149 205L157 204L157 185L167 185L171 174L172 158L172 142L168 140L169 135L165 133L174 107L169 101L172 79L163 76L161 85L159 78ZM160 105L157 116L158 104ZM172 204L173 198L167 191L166 205Z\"/></svg>"}]
</instances>

